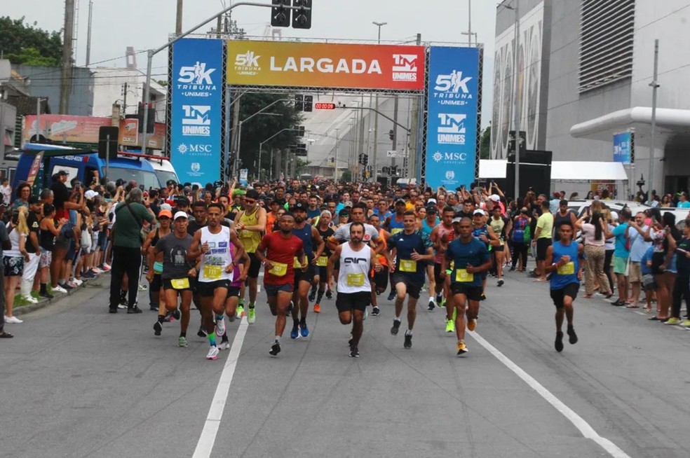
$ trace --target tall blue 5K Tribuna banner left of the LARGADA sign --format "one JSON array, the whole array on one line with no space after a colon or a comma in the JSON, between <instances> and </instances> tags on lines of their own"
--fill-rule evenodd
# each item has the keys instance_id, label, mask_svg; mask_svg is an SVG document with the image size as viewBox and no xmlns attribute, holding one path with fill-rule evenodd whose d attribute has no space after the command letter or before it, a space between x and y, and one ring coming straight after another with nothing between
<instances>
[{"instance_id":1,"label":"tall blue 5K Tribuna banner left of the LARGADA sign","mask_svg":"<svg viewBox=\"0 0 690 458\"><path fill-rule=\"evenodd\" d=\"M182 183L220 178L223 45L182 39L172 46L170 162Z\"/></svg>"}]
</instances>

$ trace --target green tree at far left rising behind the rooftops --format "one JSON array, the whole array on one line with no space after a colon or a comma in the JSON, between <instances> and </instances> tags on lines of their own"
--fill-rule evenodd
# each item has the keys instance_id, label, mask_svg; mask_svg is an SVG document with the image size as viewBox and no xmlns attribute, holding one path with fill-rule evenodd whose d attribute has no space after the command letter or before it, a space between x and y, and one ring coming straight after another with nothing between
<instances>
[{"instance_id":1,"label":"green tree at far left rising behind the rooftops","mask_svg":"<svg viewBox=\"0 0 690 458\"><path fill-rule=\"evenodd\" d=\"M48 64L55 66L62 59L60 32L48 32L24 23L24 18L0 17L0 50L13 64Z\"/></svg>"}]
</instances>

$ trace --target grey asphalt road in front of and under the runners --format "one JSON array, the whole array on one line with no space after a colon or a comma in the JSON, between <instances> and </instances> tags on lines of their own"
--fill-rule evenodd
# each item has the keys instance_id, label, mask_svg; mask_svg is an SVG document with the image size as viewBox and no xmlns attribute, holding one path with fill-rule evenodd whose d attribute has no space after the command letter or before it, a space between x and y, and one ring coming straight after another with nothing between
<instances>
[{"instance_id":1,"label":"grey asphalt road in front of and under the runners","mask_svg":"<svg viewBox=\"0 0 690 458\"><path fill-rule=\"evenodd\" d=\"M490 283L463 358L445 312L426 305L403 349L384 296L359 359L347 354L334 300L309 315L310 338L285 335L271 358L261 293L257 323L230 324L231 341L243 328L217 361L204 358L196 310L190 345L178 348L176 323L155 337L154 312L108 314L107 282L89 286L7 325L15 338L0 342L0 455L690 455L690 331L580 298L580 342L557 354L548 286L518 274L500 289Z\"/></svg>"}]
</instances>

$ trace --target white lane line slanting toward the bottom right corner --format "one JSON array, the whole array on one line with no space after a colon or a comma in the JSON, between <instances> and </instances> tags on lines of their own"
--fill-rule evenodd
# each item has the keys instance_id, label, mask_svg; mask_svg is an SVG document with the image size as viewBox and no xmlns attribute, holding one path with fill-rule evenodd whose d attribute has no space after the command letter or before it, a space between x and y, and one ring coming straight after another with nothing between
<instances>
[{"instance_id":1,"label":"white lane line slanting toward the bottom right corner","mask_svg":"<svg viewBox=\"0 0 690 458\"><path fill-rule=\"evenodd\" d=\"M618 445L614 444L611 442L611 440L608 440L607 438L603 438L602 436L597 433L597 431L594 430L592 426L588 422L586 422L580 415L577 415L574 410L569 408L567 405L562 403L559 398L554 396L548 389L543 387L543 385L536 380L534 380L534 377L532 375L529 375L528 373L525 372L525 370L522 370L520 366L517 366L517 364L513 363L513 361L510 361L508 359L508 356L504 355L503 353L499 352L496 347L491 345L489 342L487 342L484 338L482 338L481 335L479 335L476 332L471 332L468 333L471 335L474 340L476 340L482 347L487 349L489 353L493 354L496 356L496 359L501 361L508 369L512 370L517 377L520 377L523 382L527 383L529 387L532 387L534 391L539 393L542 398L546 400L550 405L553 405L553 407L561 412L564 417L566 417L574 426L580 430L583 436L585 436L588 439L594 440L595 443L599 444L604 450L609 452L611 457L614 458L630 458L628 454L623 452L621 448L618 447Z\"/></svg>"}]
</instances>

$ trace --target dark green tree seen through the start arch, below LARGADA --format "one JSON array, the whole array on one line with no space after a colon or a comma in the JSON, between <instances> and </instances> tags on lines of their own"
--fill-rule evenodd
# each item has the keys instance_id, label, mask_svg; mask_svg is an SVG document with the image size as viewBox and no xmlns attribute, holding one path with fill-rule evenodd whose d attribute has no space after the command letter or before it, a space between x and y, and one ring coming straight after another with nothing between
<instances>
[{"instance_id":1,"label":"dark green tree seen through the start arch, below LARGADA","mask_svg":"<svg viewBox=\"0 0 690 458\"><path fill-rule=\"evenodd\" d=\"M302 123L302 113L295 109L290 97L285 94L248 93L242 95L238 102L240 104L240 120L245 120L272 102L281 99L285 100L262 112L279 114L280 116L262 116L259 114L242 125L240 159L242 161L242 168L250 169L250 175L258 175L259 143L283 129L288 129L280 132L271 141L264 143L260 165L264 170L270 169L271 151L273 149L287 149L290 145L298 143L296 129L299 123Z\"/></svg>"}]
</instances>

